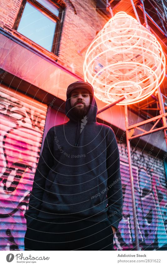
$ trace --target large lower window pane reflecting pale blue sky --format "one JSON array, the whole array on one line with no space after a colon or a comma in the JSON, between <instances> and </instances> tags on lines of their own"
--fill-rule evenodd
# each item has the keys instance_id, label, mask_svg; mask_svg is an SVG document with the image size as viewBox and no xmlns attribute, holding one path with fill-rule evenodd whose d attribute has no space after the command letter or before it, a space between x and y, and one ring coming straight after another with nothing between
<instances>
[{"instance_id":1,"label":"large lower window pane reflecting pale blue sky","mask_svg":"<svg viewBox=\"0 0 167 266\"><path fill-rule=\"evenodd\" d=\"M26 3L18 32L51 52L55 28L56 22L43 15L31 4Z\"/></svg>"}]
</instances>

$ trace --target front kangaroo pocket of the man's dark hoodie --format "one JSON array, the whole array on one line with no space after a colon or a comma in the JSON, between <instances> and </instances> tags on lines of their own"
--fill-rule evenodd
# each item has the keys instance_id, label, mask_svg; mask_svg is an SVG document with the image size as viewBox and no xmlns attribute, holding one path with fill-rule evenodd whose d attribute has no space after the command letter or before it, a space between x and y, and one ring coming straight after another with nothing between
<instances>
[{"instance_id":1,"label":"front kangaroo pocket of the man's dark hoodie","mask_svg":"<svg viewBox=\"0 0 167 266\"><path fill-rule=\"evenodd\" d=\"M51 184L51 185L50 185ZM43 207L54 213L91 215L100 210L98 176L55 174L46 186Z\"/></svg>"}]
</instances>

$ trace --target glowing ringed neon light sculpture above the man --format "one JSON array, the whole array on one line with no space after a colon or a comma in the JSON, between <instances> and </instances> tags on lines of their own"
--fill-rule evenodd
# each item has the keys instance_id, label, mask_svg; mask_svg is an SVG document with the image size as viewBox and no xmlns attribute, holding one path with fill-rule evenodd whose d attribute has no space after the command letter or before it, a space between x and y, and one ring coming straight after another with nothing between
<instances>
[{"instance_id":1,"label":"glowing ringed neon light sculpture above the man","mask_svg":"<svg viewBox=\"0 0 167 266\"><path fill-rule=\"evenodd\" d=\"M125 12L112 17L90 44L84 60L84 79L95 96L117 105L149 97L165 76L165 56L156 37Z\"/></svg>"}]
</instances>

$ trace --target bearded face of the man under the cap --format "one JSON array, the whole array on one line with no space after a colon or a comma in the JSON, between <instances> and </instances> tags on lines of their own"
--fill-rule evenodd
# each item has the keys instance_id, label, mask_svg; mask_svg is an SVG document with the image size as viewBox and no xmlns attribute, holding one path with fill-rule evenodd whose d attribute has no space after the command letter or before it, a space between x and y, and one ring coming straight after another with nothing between
<instances>
[{"instance_id":1,"label":"bearded face of the man under the cap","mask_svg":"<svg viewBox=\"0 0 167 266\"><path fill-rule=\"evenodd\" d=\"M79 118L82 119L87 114L90 104L89 91L84 88L77 88L71 92L70 104L72 111Z\"/></svg>"}]
</instances>

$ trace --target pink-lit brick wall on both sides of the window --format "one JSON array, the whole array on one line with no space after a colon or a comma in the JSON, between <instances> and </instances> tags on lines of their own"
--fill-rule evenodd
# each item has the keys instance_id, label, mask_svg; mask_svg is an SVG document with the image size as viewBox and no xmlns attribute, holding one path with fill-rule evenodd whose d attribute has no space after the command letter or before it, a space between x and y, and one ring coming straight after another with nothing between
<instances>
[{"instance_id":1,"label":"pink-lit brick wall on both sides of the window","mask_svg":"<svg viewBox=\"0 0 167 266\"><path fill-rule=\"evenodd\" d=\"M83 77L83 62L87 48L82 55L79 55L78 51L90 44L107 20L96 11L94 0L65 2L58 63ZM21 5L22 0L5 0L0 3L2 28L13 28Z\"/></svg>"}]
</instances>

